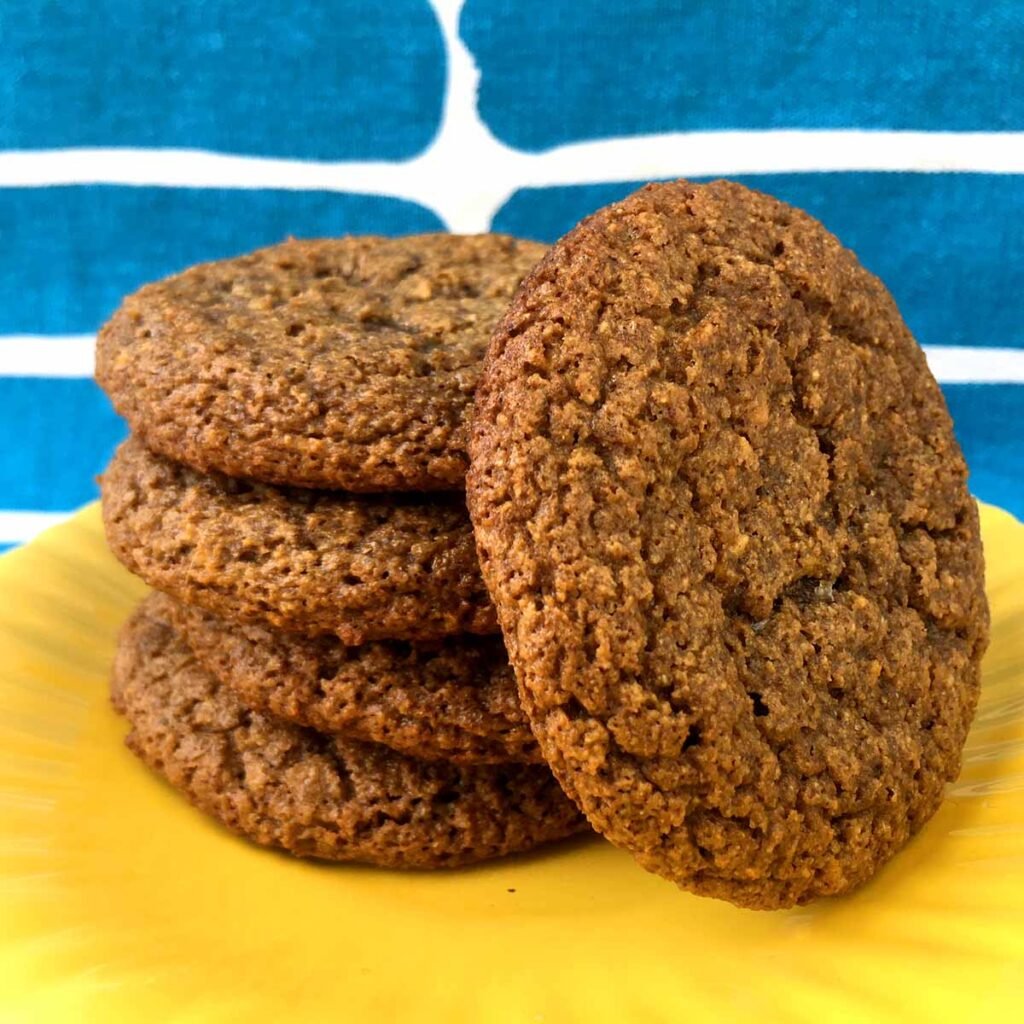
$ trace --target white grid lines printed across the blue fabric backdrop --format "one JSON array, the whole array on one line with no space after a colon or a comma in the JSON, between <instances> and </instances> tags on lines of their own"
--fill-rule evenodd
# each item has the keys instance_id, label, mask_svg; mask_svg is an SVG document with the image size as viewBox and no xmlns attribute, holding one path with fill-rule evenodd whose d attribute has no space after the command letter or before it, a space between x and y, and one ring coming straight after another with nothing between
<instances>
[{"instance_id":1,"label":"white grid lines printed across the blue fabric backdrop","mask_svg":"<svg viewBox=\"0 0 1024 1024\"><path fill-rule=\"evenodd\" d=\"M1024 133L913 131L670 132L523 153L496 138L476 106L479 71L459 37L464 0L431 0L446 50L440 129L406 161L313 162L195 150L79 148L0 153L0 186L73 183L295 188L406 199L434 210L451 230L485 231L519 188L814 171L1024 173ZM946 383L1024 383L1024 351L929 350ZM87 377L92 338L0 337L0 375ZM0 510L0 544L59 521L59 513Z\"/></svg>"}]
</instances>

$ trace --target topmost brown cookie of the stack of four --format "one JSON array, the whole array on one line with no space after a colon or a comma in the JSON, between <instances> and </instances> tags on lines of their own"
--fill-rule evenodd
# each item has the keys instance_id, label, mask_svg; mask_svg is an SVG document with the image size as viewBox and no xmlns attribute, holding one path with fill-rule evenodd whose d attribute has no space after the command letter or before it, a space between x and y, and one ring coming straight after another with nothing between
<instances>
[{"instance_id":1,"label":"topmost brown cookie of the stack of four","mask_svg":"<svg viewBox=\"0 0 1024 1024\"><path fill-rule=\"evenodd\" d=\"M501 234L288 241L146 285L96 379L155 452L348 490L455 489L490 331L545 252Z\"/></svg>"}]
</instances>

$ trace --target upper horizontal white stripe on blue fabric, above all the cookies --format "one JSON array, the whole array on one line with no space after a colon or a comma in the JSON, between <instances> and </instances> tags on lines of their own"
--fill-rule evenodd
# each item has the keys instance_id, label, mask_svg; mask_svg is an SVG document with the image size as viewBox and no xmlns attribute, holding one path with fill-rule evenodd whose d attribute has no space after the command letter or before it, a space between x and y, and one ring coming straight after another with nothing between
<instances>
[{"instance_id":1,"label":"upper horizontal white stripe on blue fabric, above all the cookies","mask_svg":"<svg viewBox=\"0 0 1024 1024\"><path fill-rule=\"evenodd\" d=\"M425 202L439 183L421 170L437 145L414 160L284 160L173 148L69 148L0 152L0 186L61 184L292 188L397 195ZM1024 173L1024 132L765 129L668 132L597 139L524 153L489 136L485 146L510 187L545 187L673 176L827 171ZM475 148L481 148L479 144ZM497 158L497 159L495 159ZM430 161L434 163L433 160ZM492 161L487 161L488 164ZM479 165L445 164L446 177L478 181ZM493 168L494 169L494 168ZM451 187L451 186L449 186Z\"/></svg>"}]
</instances>

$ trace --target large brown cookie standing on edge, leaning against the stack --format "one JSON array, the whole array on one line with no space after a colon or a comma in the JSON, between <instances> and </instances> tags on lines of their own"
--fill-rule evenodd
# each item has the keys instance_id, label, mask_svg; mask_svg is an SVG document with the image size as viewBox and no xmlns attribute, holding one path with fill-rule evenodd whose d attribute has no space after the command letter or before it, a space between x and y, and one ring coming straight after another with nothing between
<instances>
[{"instance_id":1,"label":"large brown cookie standing on edge, leaning against the stack","mask_svg":"<svg viewBox=\"0 0 1024 1024\"><path fill-rule=\"evenodd\" d=\"M737 184L585 220L496 331L467 480L542 753L696 893L869 878L959 770L987 643L976 507L884 286Z\"/></svg>"}]
</instances>

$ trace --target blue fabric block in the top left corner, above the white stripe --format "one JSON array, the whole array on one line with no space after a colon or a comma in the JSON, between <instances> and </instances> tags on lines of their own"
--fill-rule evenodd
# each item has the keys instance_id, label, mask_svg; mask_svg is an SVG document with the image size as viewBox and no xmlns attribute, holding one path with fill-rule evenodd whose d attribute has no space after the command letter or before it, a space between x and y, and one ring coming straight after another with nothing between
<instances>
[{"instance_id":1,"label":"blue fabric block in the top left corner, above the white stripe","mask_svg":"<svg viewBox=\"0 0 1024 1024\"><path fill-rule=\"evenodd\" d=\"M399 159L437 130L425 0L3 0L0 146Z\"/></svg>"}]
</instances>

